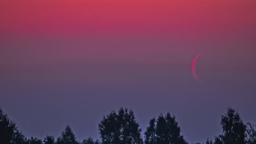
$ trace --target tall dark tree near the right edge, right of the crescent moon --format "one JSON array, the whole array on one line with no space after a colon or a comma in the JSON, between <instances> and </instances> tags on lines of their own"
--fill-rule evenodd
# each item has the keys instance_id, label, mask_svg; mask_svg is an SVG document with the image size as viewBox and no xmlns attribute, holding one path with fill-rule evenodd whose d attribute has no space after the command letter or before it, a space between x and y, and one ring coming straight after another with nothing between
<instances>
[{"instance_id":1,"label":"tall dark tree near the right edge, right of the crescent moon","mask_svg":"<svg viewBox=\"0 0 256 144\"><path fill-rule=\"evenodd\" d=\"M222 141L224 144L245 144L246 125L243 124L239 114L228 108L228 112L222 116L220 125L222 125L223 135Z\"/></svg>"}]
</instances>

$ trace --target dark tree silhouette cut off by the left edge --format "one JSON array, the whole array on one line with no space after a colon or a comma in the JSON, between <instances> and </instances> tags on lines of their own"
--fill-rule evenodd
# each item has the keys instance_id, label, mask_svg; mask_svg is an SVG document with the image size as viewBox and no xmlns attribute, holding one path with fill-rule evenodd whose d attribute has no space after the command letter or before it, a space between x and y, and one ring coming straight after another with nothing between
<instances>
[{"instance_id":1,"label":"dark tree silhouette cut off by the left edge","mask_svg":"<svg viewBox=\"0 0 256 144\"><path fill-rule=\"evenodd\" d=\"M0 143L9 144L16 130L15 123L0 109Z\"/></svg>"}]
</instances>

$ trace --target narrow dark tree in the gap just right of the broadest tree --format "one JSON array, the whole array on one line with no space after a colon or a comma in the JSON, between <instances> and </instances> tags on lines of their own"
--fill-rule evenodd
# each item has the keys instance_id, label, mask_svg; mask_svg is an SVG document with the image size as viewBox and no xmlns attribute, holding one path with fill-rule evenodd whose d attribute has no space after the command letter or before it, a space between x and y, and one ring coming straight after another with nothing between
<instances>
[{"instance_id":1,"label":"narrow dark tree in the gap just right of the broadest tree","mask_svg":"<svg viewBox=\"0 0 256 144\"><path fill-rule=\"evenodd\" d=\"M149 126L144 133L145 144L156 144L155 139L155 118L150 119Z\"/></svg>"}]
</instances>

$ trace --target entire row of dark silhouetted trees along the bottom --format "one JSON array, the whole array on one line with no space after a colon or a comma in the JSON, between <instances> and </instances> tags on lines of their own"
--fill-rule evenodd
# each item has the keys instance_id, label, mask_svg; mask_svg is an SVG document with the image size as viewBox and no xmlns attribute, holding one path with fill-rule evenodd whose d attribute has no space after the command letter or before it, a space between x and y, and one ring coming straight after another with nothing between
<instances>
[{"instance_id":1,"label":"entire row of dark silhouetted trees along the bottom","mask_svg":"<svg viewBox=\"0 0 256 144\"><path fill-rule=\"evenodd\" d=\"M220 119L222 135L206 144L256 144L256 125L243 123L238 112L229 107ZM176 117L170 113L160 114L149 120L144 134L131 109L121 108L103 116L98 124L100 140L90 136L78 141L67 125L61 135L46 136L43 140L26 137L16 124L0 109L0 144L188 144L181 134ZM194 143L200 144L200 143Z\"/></svg>"}]
</instances>

